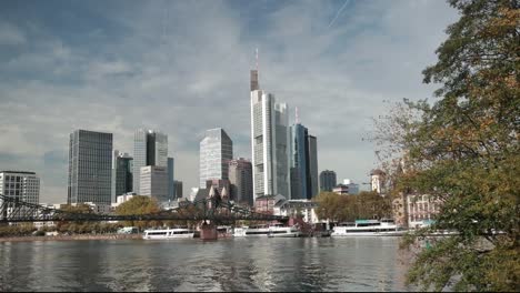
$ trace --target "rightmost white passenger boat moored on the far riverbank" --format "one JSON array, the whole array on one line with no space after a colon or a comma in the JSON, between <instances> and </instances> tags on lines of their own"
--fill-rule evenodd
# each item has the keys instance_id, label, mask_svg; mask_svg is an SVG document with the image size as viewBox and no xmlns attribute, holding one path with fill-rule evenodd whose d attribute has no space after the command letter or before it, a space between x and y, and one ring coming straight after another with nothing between
<instances>
[{"instance_id":1,"label":"rightmost white passenger boat moored on the far riverbank","mask_svg":"<svg viewBox=\"0 0 520 293\"><path fill-rule=\"evenodd\" d=\"M398 228L393 220L356 220L356 222L341 223L332 229L330 236L400 236L407 231Z\"/></svg>"}]
</instances>

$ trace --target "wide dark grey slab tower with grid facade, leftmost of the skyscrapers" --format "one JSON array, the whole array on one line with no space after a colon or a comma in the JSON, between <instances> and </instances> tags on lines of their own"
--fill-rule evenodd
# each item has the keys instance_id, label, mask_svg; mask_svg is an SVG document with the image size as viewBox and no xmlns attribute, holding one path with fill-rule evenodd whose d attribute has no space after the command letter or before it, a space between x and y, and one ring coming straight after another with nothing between
<instances>
[{"instance_id":1,"label":"wide dark grey slab tower with grid facade, leftmost of the skyscrapers","mask_svg":"<svg viewBox=\"0 0 520 293\"><path fill-rule=\"evenodd\" d=\"M76 130L69 141L69 204L111 203L112 133Z\"/></svg>"}]
</instances>

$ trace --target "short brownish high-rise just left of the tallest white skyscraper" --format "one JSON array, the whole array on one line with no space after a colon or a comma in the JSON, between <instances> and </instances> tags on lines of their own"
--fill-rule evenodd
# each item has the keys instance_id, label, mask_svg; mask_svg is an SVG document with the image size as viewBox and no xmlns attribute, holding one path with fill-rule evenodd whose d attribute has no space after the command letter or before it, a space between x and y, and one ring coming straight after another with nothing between
<instances>
[{"instance_id":1,"label":"short brownish high-rise just left of the tallest white skyscraper","mask_svg":"<svg viewBox=\"0 0 520 293\"><path fill-rule=\"evenodd\" d=\"M253 205L251 162L240 158L229 162L229 182L231 200L237 203Z\"/></svg>"}]
</instances>

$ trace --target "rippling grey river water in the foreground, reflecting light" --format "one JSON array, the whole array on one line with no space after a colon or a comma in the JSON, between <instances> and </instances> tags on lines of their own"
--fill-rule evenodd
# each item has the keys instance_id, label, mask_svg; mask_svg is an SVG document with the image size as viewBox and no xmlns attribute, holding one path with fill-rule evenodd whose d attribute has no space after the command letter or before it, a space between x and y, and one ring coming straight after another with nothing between
<instances>
[{"instance_id":1,"label":"rippling grey river water in the foreground, reflecting light","mask_svg":"<svg viewBox=\"0 0 520 293\"><path fill-rule=\"evenodd\" d=\"M398 238L0 243L0 291L406 291Z\"/></svg>"}]
</instances>

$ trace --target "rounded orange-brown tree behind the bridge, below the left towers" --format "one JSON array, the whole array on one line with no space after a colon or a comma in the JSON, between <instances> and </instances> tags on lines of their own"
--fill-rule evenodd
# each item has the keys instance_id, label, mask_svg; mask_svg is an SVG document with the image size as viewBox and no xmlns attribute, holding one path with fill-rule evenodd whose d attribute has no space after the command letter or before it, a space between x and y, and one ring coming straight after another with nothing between
<instances>
[{"instance_id":1,"label":"rounded orange-brown tree behind the bridge, below the left towers","mask_svg":"<svg viewBox=\"0 0 520 293\"><path fill-rule=\"evenodd\" d=\"M136 195L116 208L116 214L118 215L153 214L158 213L159 211L160 206L157 200L143 195ZM160 221L126 221L124 224L130 226L138 226L139 229L162 225Z\"/></svg>"}]
</instances>

